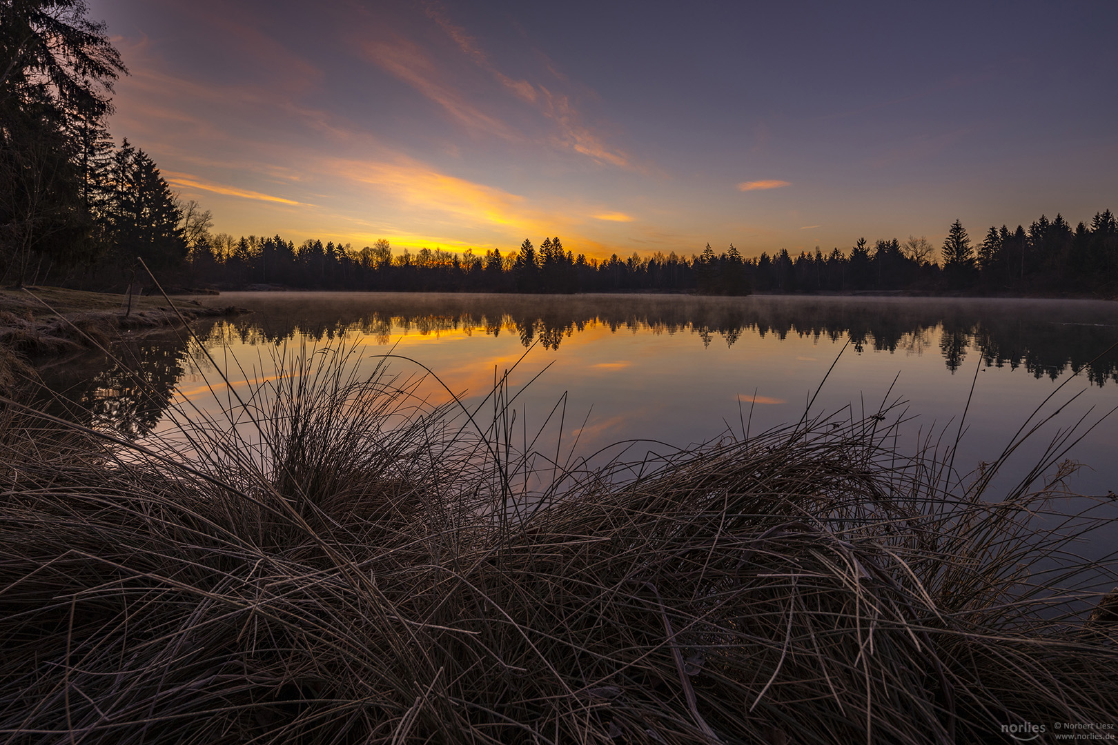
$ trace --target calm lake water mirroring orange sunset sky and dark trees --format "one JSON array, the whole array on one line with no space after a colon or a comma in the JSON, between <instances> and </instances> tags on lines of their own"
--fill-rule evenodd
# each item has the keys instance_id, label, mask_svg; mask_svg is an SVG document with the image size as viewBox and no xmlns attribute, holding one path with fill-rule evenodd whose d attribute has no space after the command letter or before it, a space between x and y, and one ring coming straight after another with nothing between
<instances>
[{"instance_id":1,"label":"calm lake water mirroring orange sunset sky and dark trees","mask_svg":"<svg viewBox=\"0 0 1118 745\"><path fill-rule=\"evenodd\" d=\"M1041 410L1052 420L1010 475L1078 423L1095 428L1069 453L1087 466L1071 486L1106 495L1118 483L1118 417L1103 417L1118 407L1118 354L1107 352L1118 343L1115 303L389 293L227 293L216 302L253 311L196 328L240 390L275 375L278 350L339 342L353 345L366 372L386 354L401 375L429 369L467 407L512 370L513 391L530 382L517 399L522 441L563 458L603 449L599 458L639 458L756 433L800 420L814 397L808 416L855 419L903 401L898 447L907 451L929 432L954 443L966 411L955 464L966 472L996 458L1055 392ZM44 376L95 426L135 437L165 428L172 403L219 408L197 344L148 336L116 352L132 373L92 354ZM449 398L434 379L418 390L433 402Z\"/></svg>"}]
</instances>

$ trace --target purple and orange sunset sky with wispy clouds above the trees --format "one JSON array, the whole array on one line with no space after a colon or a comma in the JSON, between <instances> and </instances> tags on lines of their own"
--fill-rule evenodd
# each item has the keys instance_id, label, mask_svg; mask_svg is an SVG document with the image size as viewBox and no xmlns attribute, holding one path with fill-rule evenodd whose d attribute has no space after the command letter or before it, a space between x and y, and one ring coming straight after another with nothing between
<instances>
[{"instance_id":1,"label":"purple and orange sunset sky with wispy clouds above the trees","mask_svg":"<svg viewBox=\"0 0 1118 745\"><path fill-rule=\"evenodd\" d=\"M89 0L214 230L849 250L1118 210L1118 3Z\"/></svg>"}]
</instances>

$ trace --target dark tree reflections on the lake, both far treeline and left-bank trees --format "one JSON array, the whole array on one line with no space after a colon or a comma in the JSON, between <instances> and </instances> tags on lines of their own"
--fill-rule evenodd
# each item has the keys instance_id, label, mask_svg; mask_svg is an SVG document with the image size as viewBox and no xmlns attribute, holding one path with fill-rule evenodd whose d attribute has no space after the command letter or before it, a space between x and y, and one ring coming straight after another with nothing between
<instances>
[{"instance_id":1,"label":"dark tree reflections on the lake, both far treeline and left-bank trees","mask_svg":"<svg viewBox=\"0 0 1118 745\"><path fill-rule=\"evenodd\" d=\"M862 354L938 353L955 372L977 353L987 367L1023 369L1057 379L1086 367L1097 386L1118 381L1118 307L1054 300L931 298L690 296L501 296L395 294L233 294L230 303L256 312L196 328L207 347L269 345L357 334L380 344L402 335L510 335L523 347L552 353L588 331L693 335L702 346L733 347L743 337L843 341ZM49 408L83 424L129 437L149 433L163 417L174 386L198 372L184 337L125 340L115 360L91 354L41 370Z\"/></svg>"}]
</instances>

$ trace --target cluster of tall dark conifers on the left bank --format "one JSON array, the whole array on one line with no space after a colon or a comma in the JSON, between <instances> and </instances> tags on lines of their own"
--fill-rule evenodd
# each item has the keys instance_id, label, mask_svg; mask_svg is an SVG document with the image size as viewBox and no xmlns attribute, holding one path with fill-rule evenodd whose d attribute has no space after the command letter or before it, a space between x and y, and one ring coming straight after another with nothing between
<instances>
[{"instance_id":1,"label":"cluster of tall dark conifers on the left bank","mask_svg":"<svg viewBox=\"0 0 1118 745\"><path fill-rule=\"evenodd\" d=\"M108 287L181 271L209 216L106 128L126 73L80 0L0 2L0 283Z\"/></svg>"}]
</instances>

